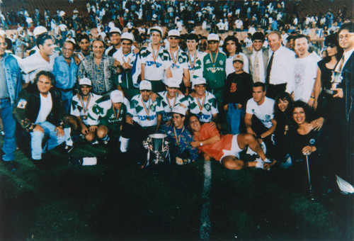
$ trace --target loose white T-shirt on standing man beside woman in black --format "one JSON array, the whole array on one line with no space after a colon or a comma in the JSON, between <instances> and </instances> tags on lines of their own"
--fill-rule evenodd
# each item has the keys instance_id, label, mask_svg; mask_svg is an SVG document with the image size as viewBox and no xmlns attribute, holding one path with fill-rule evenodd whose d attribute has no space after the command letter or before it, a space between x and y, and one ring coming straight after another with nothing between
<instances>
[{"instance_id":1,"label":"loose white T-shirt on standing man beside woman in black","mask_svg":"<svg viewBox=\"0 0 354 241\"><path fill-rule=\"evenodd\" d=\"M307 103L314 89L314 82L317 75L317 62L321 57L312 52L307 57L297 58L295 60L294 75L294 100Z\"/></svg>"}]
</instances>

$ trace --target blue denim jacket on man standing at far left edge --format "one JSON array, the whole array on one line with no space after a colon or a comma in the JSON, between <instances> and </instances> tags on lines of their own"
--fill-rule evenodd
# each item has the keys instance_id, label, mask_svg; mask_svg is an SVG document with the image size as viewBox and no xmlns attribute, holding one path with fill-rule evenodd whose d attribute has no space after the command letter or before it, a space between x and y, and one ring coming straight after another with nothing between
<instances>
[{"instance_id":1,"label":"blue denim jacket on man standing at far left edge","mask_svg":"<svg viewBox=\"0 0 354 241\"><path fill-rule=\"evenodd\" d=\"M4 69L6 75L6 83L8 96L10 97L11 106L13 106L18 98L18 94L22 89L21 84L21 69L18 67L18 62L15 57L4 54Z\"/></svg>"}]
</instances>

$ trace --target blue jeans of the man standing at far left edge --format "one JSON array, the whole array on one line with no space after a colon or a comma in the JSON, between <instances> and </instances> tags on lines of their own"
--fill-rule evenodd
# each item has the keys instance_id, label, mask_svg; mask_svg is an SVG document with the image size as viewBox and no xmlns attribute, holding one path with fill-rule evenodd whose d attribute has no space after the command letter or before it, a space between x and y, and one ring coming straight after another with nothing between
<instances>
[{"instance_id":1,"label":"blue jeans of the man standing at far left edge","mask_svg":"<svg viewBox=\"0 0 354 241\"><path fill-rule=\"evenodd\" d=\"M15 159L16 150L16 121L13 118L13 106L11 106L10 99L0 99L0 115L2 125L4 128L4 144L2 145L3 161L13 161Z\"/></svg>"}]
</instances>

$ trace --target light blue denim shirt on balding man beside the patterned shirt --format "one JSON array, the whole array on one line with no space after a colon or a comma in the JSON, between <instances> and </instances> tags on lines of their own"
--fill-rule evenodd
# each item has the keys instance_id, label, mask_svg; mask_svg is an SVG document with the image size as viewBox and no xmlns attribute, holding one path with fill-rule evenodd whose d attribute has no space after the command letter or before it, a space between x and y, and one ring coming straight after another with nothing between
<instances>
[{"instance_id":1,"label":"light blue denim shirt on balding man beside the patterned shirt","mask_svg":"<svg viewBox=\"0 0 354 241\"><path fill-rule=\"evenodd\" d=\"M69 66L62 55L56 57L52 73L55 76L55 86L57 86L57 88L74 88L76 84L77 65L73 58Z\"/></svg>"}]
</instances>

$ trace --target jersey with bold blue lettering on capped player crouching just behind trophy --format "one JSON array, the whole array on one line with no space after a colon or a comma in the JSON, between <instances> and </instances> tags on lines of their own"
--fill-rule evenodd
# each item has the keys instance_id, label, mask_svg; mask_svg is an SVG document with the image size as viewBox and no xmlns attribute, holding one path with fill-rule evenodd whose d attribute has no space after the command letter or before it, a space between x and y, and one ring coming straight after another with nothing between
<instances>
[{"instance_id":1,"label":"jersey with bold blue lettering on capped player crouching just behind trophy","mask_svg":"<svg viewBox=\"0 0 354 241\"><path fill-rule=\"evenodd\" d=\"M156 98L156 101L152 101L152 99L143 101L142 95L137 94L130 101L129 114L142 127L157 125L157 115L163 113L164 109L159 98Z\"/></svg>"}]
</instances>

